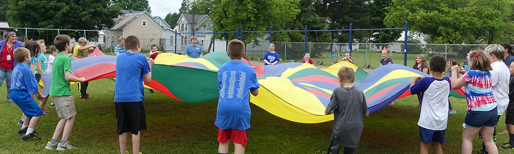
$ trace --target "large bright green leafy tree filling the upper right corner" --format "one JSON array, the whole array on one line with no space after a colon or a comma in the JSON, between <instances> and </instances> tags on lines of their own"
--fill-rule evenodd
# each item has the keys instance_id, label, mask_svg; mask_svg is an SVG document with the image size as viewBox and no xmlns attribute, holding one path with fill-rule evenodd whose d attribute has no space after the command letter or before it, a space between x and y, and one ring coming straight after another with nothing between
<instances>
[{"instance_id":1,"label":"large bright green leafy tree filling the upper right corner","mask_svg":"<svg viewBox=\"0 0 514 154\"><path fill-rule=\"evenodd\" d=\"M430 34L430 43L501 43L514 37L514 1L442 0L425 3L393 0L384 24Z\"/></svg>"}]
</instances>

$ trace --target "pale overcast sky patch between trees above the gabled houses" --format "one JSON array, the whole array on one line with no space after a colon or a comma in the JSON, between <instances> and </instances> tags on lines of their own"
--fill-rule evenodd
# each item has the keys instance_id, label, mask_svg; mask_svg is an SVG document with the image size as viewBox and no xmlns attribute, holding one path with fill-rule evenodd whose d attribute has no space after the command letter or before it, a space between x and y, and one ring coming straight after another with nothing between
<instances>
[{"instance_id":1,"label":"pale overcast sky patch between trees above the gabled houses","mask_svg":"<svg viewBox=\"0 0 514 154\"><path fill-rule=\"evenodd\" d=\"M182 6L182 0L148 0L152 16L160 16L162 19L168 13L178 13L178 9Z\"/></svg>"}]
</instances>

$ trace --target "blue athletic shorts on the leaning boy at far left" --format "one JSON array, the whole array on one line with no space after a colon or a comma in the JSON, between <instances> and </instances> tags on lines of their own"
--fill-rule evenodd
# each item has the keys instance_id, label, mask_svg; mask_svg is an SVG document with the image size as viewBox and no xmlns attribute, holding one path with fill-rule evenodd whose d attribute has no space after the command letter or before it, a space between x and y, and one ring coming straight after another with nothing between
<instances>
[{"instance_id":1,"label":"blue athletic shorts on the leaning boy at far left","mask_svg":"<svg viewBox=\"0 0 514 154\"><path fill-rule=\"evenodd\" d=\"M43 115L43 111L39 107L38 103L30 97L30 94L25 90L12 90L11 99L22 109L23 113L27 118L38 117Z\"/></svg>"}]
</instances>

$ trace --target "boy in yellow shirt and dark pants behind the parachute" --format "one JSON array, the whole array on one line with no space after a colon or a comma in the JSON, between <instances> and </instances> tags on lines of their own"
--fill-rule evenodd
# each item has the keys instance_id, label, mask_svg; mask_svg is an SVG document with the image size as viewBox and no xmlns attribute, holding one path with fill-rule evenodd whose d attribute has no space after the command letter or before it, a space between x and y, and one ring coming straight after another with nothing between
<instances>
[{"instance_id":1,"label":"boy in yellow shirt and dark pants behind the parachute","mask_svg":"<svg viewBox=\"0 0 514 154\"><path fill-rule=\"evenodd\" d=\"M84 37L79 38L79 45L75 46L73 48L73 55L80 56L80 57L87 57L89 55L89 51L91 49L97 48L95 45L88 45L87 40ZM77 84L79 86L79 94L80 94L80 100L84 101L86 99L91 98L91 96L87 93L87 86L89 85L89 82L79 83Z\"/></svg>"}]
</instances>

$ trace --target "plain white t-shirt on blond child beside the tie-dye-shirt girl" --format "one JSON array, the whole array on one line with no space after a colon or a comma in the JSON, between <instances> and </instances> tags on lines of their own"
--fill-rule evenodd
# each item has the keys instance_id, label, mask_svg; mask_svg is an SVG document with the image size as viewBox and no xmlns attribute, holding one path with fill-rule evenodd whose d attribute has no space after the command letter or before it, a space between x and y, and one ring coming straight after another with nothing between
<instances>
[{"instance_id":1,"label":"plain white t-shirt on blond child beside the tie-dye-shirt girl","mask_svg":"<svg viewBox=\"0 0 514 154\"><path fill-rule=\"evenodd\" d=\"M498 103L498 115L502 115L509 105L510 71L503 62L491 63L492 95Z\"/></svg>"}]
</instances>

